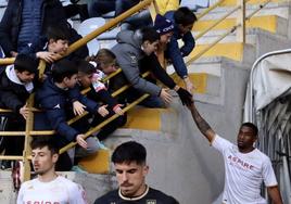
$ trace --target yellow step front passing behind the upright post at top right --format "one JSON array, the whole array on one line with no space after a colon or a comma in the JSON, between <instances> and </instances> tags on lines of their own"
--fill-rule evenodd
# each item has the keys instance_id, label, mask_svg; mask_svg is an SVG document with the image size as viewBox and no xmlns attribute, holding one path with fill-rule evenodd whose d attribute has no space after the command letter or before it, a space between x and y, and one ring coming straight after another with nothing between
<instances>
[{"instance_id":1,"label":"yellow step front passing behind the upright post at top right","mask_svg":"<svg viewBox=\"0 0 291 204\"><path fill-rule=\"evenodd\" d=\"M217 26L215 26L213 29L229 29L236 25L236 18L227 18ZM252 27L258 27L264 30L268 30L270 33L276 33L277 29L277 15L266 15L266 16L257 16L252 17L250 21L246 21L246 28ZM211 25L215 23L215 20L211 21L199 21L193 26L193 31L202 31L206 28L208 28Z\"/></svg>"}]
</instances>

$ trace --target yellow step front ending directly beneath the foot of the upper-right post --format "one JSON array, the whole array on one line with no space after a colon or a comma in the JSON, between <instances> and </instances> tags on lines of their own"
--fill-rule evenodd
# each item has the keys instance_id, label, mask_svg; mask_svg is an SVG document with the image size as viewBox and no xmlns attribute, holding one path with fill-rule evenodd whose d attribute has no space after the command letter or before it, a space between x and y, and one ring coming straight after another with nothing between
<instances>
[{"instance_id":1,"label":"yellow step front ending directly beneath the foot of the upper-right post","mask_svg":"<svg viewBox=\"0 0 291 204\"><path fill-rule=\"evenodd\" d=\"M205 49L207 44L198 44L190 53L190 59L195 56L201 50ZM217 43L211 50L205 52L202 56L225 56L236 61L242 61L243 56L243 43L230 42L230 43Z\"/></svg>"}]
</instances>

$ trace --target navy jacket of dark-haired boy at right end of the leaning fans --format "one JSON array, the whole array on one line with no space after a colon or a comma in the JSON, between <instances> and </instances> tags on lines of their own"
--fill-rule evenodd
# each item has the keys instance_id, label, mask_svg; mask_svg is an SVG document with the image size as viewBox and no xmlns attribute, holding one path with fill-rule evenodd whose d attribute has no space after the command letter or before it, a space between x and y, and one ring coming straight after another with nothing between
<instances>
[{"instance_id":1,"label":"navy jacket of dark-haired boy at right end of the leaning fans","mask_svg":"<svg viewBox=\"0 0 291 204\"><path fill-rule=\"evenodd\" d=\"M184 36L179 33L178 25L174 20L174 11L168 11L165 13L165 17L174 23L174 35L170 38L170 41L167 44L166 56L172 60L176 73L184 78L188 75L186 64L184 62L184 56L190 54L190 52L195 47L195 40L191 34L188 31ZM179 48L178 40L182 39L184 46Z\"/></svg>"}]
</instances>

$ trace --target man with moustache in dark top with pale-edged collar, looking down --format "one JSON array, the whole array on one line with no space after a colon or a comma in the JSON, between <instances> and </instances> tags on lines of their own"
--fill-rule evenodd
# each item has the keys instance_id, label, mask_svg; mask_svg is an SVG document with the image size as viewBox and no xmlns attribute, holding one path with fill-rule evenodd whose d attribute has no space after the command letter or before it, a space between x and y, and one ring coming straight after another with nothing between
<instances>
[{"instance_id":1,"label":"man with moustache in dark top with pale-edged collar, looking down","mask_svg":"<svg viewBox=\"0 0 291 204\"><path fill-rule=\"evenodd\" d=\"M146 183L149 166L146 148L135 141L121 144L112 154L119 188L96 200L94 204L179 204L173 196Z\"/></svg>"}]
</instances>

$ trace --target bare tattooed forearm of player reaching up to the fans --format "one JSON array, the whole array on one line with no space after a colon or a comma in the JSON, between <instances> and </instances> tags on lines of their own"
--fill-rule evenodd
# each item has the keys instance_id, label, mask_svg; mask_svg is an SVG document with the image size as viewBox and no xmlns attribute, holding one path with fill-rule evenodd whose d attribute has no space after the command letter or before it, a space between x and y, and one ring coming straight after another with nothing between
<instances>
[{"instance_id":1,"label":"bare tattooed forearm of player reaching up to the fans","mask_svg":"<svg viewBox=\"0 0 291 204\"><path fill-rule=\"evenodd\" d=\"M207 122L205 122L205 119L200 115L200 113L198 112L194 102L188 106L188 109L191 111L192 117L199 128L199 130L201 131L201 133L203 133L205 136L205 138L212 142L215 136L215 131L213 131L213 129L211 128L211 126L207 124Z\"/></svg>"}]
</instances>

